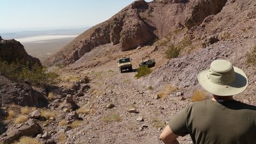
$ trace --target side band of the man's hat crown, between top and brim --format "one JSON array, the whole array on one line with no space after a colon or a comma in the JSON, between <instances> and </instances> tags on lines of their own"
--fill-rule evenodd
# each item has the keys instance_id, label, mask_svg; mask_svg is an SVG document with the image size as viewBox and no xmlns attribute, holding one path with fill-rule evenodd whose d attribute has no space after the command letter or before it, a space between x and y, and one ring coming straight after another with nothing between
<instances>
[{"instance_id":1,"label":"side band of the man's hat crown, between top and brim","mask_svg":"<svg viewBox=\"0 0 256 144\"><path fill-rule=\"evenodd\" d=\"M207 78L209 81L215 84L220 85L228 85L233 83L236 80L236 73L234 72L234 68L232 67L228 72L215 72L212 68L209 69L207 74Z\"/></svg>"}]
</instances>

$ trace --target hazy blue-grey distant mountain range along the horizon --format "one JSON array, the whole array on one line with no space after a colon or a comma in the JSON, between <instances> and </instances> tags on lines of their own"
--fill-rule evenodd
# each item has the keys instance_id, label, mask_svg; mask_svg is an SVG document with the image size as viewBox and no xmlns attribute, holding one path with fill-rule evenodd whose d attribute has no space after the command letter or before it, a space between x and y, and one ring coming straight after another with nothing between
<instances>
[{"instance_id":1,"label":"hazy blue-grey distant mountain range along the horizon","mask_svg":"<svg viewBox=\"0 0 256 144\"><path fill-rule=\"evenodd\" d=\"M2 38L4 39L17 39L17 38L26 38L31 36L38 35L79 35L86 31L90 27L84 28L73 28L73 29L51 29L51 30L43 30L43 31L20 31L20 32L12 32L12 33L0 33Z\"/></svg>"}]
</instances>

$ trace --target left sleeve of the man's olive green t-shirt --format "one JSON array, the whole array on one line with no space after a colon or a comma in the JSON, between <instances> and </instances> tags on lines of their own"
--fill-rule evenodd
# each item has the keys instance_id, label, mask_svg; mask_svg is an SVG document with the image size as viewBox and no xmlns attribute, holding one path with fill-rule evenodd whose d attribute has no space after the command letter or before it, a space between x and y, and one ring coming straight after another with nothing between
<instances>
[{"instance_id":1,"label":"left sleeve of the man's olive green t-shirt","mask_svg":"<svg viewBox=\"0 0 256 144\"><path fill-rule=\"evenodd\" d=\"M170 129L177 136L185 136L186 134L189 134L187 127L187 112L188 107L180 111L168 122Z\"/></svg>"}]
</instances>

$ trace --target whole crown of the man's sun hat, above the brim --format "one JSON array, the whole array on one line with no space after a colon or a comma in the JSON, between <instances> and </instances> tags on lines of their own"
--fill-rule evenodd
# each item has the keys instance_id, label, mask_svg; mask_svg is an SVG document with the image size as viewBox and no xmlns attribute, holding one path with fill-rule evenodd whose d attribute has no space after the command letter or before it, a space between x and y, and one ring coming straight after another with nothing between
<instances>
[{"instance_id":1,"label":"whole crown of the man's sun hat, above the brim","mask_svg":"<svg viewBox=\"0 0 256 144\"><path fill-rule=\"evenodd\" d=\"M211 63L208 79L215 84L228 85L236 80L232 63L227 60L215 60Z\"/></svg>"}]
</instances>

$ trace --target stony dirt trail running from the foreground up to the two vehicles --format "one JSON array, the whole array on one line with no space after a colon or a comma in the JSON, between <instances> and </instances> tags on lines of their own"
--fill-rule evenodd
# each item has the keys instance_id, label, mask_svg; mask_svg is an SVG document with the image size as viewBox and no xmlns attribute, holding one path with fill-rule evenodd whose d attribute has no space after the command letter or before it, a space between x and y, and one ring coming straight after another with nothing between
<instances>
[{"instance_id":1,"label":"stony dirt trail running from the foreground up to the two vehicles","mask_svg":"<svg viewBox=\"0 0 256 144\"><path fill-rule=\"evenodd\" d=\"M133 71L120 74L117 60L108 61L93 69L76 70L76 75L86 75L91 79L90 93L79 99L79 106L90 105L89 115L81 127L68 134L67 141L74 143L161 143L159 134L166 121L190 102L177 92L166 95L163 99L154 99L159 88L148 88L136 79L136 68L141 58L155 47L136 50L131 54ZM127 52L125 52L127 53ZM161 52L157 52L159 54ZM157 69L164 64L163 57L156 58ZM158 61L159 60L159 61ZM182 100L180 100L182 99ZM114 104L114 108L106 108ZM138 113L129 113L135 108ZM141 116L143 122L136 121ZM71 133L71 132L70 132ZM81 136L81 134L84 134ZM67 142L66 141L66 142ZM180 138L180 143L188 143L190 138Z\"/></svg>"}]
</instances>

